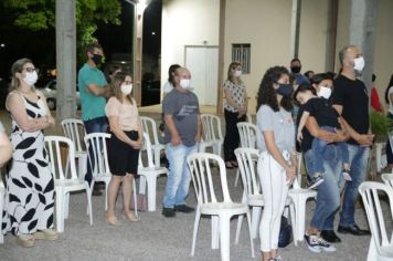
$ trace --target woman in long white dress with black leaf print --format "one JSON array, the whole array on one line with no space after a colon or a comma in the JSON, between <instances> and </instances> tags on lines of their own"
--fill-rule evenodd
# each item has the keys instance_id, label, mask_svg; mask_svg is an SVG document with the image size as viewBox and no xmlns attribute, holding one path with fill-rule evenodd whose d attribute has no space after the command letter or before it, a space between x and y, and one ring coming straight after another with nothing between
<instances>
[{"instance_id":1,"label":"woman in long white dress with black leaf print","mask_svg":"<svg viewBox=\"0 0 393 261\"><path fill-rule=\"evenodd\" d=\"M17 243L33 247L35 239L55 240L53 230L54 181L44 146L43 129L54 119L44 95L34 88L36 69L29 59L13 63L6 108L12 117L12 166L7 177L2 232Z\"/></svg>"}]
</instances>

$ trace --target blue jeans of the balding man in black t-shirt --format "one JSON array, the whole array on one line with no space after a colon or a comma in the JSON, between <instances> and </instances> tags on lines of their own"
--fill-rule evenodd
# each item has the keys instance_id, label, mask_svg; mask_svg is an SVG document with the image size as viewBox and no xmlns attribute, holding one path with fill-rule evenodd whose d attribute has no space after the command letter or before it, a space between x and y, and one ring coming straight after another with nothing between
<instances>
[{"instance_id":1,"label":"blue jeans of the balding man in black t-shirt","mask_svg":"<svg viewBox=\"0 0 393 261\"><path fill-rule=\"evenodd\" d=\"M365 179L370 156L369 147L348 144L348 150L352 181L347 184L340 212L340 225L346 227L354 225L354 207L359 195L358 188Z\"/></svg>"}]
</instances>

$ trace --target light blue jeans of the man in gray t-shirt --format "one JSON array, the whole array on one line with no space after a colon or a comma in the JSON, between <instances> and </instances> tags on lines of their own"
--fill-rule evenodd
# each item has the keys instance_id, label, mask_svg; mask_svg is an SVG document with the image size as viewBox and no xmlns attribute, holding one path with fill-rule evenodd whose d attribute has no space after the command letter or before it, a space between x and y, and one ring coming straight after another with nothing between
<instances>
[{"instance_id":1,"label":"light blue jeans of the man in gray t-shirt","mask_svg":"<svg viewBox=\"0 0 393 261\"><path fill-rule=\"evenodd\" d=\"M166 191L163 195L163 207L173 208L174 205L185 203L189 194L191 174L187 166L187 157L197 153L198 144L193 146L166 145L166 155L169 161L169 173L167 178Z\"/></svg>"}]
</instances>

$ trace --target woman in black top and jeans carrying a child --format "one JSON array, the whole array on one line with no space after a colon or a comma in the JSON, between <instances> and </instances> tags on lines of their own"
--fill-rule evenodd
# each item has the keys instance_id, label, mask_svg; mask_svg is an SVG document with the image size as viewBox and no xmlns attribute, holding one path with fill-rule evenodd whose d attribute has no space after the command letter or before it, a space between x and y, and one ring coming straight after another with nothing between
<instances>
[{"instance_id":1,"label":"woman in black top and jeans carrying a child","mask_svg":"<svg viewBox=\"0 0 393 261\"><path fill-rule=\"evenodd\" d=\"M312 80L312 86L301 85L295 92L295 98L299 100L305 92L314 92L320 97L330 98L332 88L332 80L328 74L316 74ZM326 91L329 88L329 91ZM336 111L330 107L327 111L331 115L336 115ZM304 105L300 106L299 116L302 114ZM342 119L340 119L341 122ZM337 119L337 124L339 119ZM342 124L341 129L344 130ZM318 186L317 206L312 215L310 227L305 234L305 241L308 249L312 252L331 252L336 251L334 242L340 242L340 238L333 231L334 215L340 207L340 187L343 185L341 176L342 166L342 149L337 146L339 142L348 139L348 135L342 132L330 133L320 129L314 116L308 117L306 128L302 128L301 152L305 158L307 169L311 169L316 160L321 160L323 166L323 182ZM322 158L316 158L312 152L314 138L323 139L327 142L336 142L328 145L323 152Z\"/></svg>"}]
</instances>

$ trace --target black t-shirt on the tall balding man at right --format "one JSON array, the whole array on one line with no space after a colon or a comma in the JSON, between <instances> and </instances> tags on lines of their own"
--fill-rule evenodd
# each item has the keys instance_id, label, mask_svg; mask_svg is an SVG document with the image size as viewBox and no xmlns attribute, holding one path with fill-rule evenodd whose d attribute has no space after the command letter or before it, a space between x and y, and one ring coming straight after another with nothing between
<instances>
[{"instance_id":1,"label":"black t-shirt on the tall balding man at right","mask_svg":"<svg viewBox=\"0 0 393 261\"><path fill-rule=\"evenodd\" d=\"M334 80L332 104L342 106L341 116L359 134L369 132L369 100L368 88L362 81L350 80L342 74ZM352 138L348 143L359 145Z\"/></svg>"}]
</instances>

